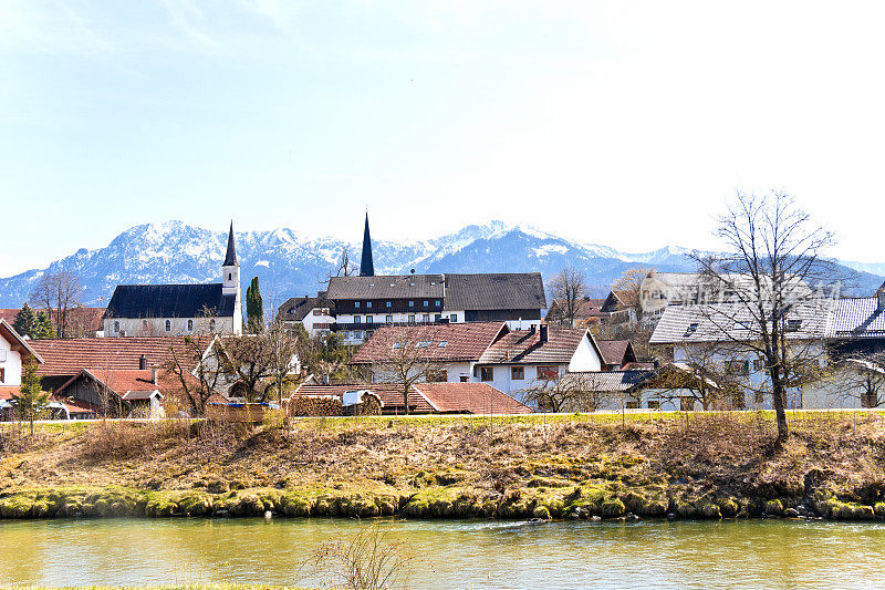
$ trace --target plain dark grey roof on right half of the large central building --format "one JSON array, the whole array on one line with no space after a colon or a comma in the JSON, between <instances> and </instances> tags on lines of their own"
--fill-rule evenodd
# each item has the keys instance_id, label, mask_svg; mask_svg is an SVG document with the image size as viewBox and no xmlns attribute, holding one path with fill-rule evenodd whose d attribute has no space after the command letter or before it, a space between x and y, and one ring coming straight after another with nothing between
<instances>
[{"instance_id":1,"label":"plain dark grey roof on right half of the large central building","mask_svg":"<svg viewBox=\"0 0 885 590\"><path fill-rule=\"evenodd\" d=\"M446 275L446 310L544 309L540 272Z\"/></svg>"}]
</instances>

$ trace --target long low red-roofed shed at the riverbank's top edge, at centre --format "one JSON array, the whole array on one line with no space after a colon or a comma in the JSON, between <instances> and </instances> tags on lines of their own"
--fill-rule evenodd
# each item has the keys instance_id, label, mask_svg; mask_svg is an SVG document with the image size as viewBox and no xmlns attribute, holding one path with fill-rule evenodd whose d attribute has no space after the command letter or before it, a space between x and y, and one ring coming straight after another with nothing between
<instances>
[{"instance_id":1,"label":"long low red-roofed shed at the riverbank's top edge, at centre","mask_svg":"<svg viewBox=\"0 0 885 590\"><path fill-rule=\"evenodd\" d=\"M405 405L402 385L372 383L352 385L302 384L295 395L339 398L348 392L366 391L382 402L383 414L403 414ZM415 383L408 394L413 414L530 414L532 410L486 383Z\"/></svg>"}]
</instances>

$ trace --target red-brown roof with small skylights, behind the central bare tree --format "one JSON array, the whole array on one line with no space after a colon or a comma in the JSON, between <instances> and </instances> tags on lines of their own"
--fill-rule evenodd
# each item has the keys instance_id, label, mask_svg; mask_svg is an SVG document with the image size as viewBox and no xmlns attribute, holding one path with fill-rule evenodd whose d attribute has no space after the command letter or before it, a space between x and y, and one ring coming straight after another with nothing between
<instances>
[{"instance_id":1,"label":"red-brown roof with small skylights, behind the central bare tree","mask_svg":"<svg viewBox=\"0 0 885 590\"><path fill-rule=\"evenodd\" d=\"M430 362L477 361L508 328L504 322L384 325L363 344L351 364L371 364L391 359L393 346L406 343ZM424 343L427 344L424 344Z\"/></svg>"}]
</instances>

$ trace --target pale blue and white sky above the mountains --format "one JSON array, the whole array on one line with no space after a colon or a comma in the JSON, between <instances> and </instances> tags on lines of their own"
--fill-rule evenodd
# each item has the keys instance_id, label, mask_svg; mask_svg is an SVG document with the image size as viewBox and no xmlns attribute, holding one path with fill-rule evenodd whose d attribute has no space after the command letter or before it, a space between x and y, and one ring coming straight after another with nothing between
<instances>
[{"instance_id":1,"label":"pale blue and white sky above the mountains","mask_svg":"<svg viewBox=\"0 0 885 590\"><path fill-rule=\"evenodd\" d=\"M0 0L0 276L137 224L715 248L780 189L885 261L877 2Z\"/></svg>"}]
</instances>

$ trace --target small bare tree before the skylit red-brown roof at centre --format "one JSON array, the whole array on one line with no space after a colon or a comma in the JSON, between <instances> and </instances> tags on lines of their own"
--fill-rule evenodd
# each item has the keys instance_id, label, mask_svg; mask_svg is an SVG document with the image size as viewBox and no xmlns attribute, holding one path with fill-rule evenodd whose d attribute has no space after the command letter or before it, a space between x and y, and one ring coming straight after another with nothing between
<instances>
[{"instance_id":1,"label":"small bare tree before the skylit red-brown roof at centre","mask_svg":"<svg viewBox=\"0 0 885 590\"><path fill-rule=\"evenodd\" d=\"M403 393L403 406L408 411L408 394L415 383L433 381L433 374L442 365L431 359L429 340L421 340L420 328L386 327L375 332L384 358L373 366L374 379L378 383L395 383Z\"/></svg>"}]
</instances>

